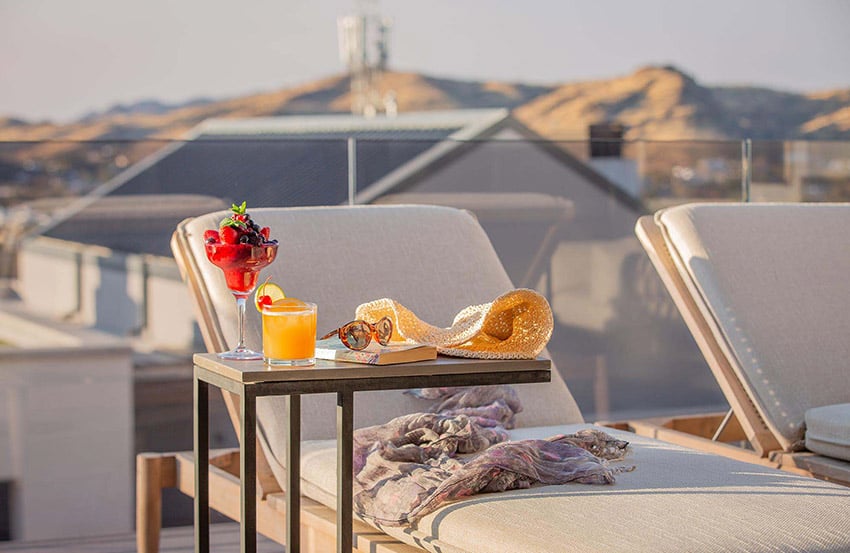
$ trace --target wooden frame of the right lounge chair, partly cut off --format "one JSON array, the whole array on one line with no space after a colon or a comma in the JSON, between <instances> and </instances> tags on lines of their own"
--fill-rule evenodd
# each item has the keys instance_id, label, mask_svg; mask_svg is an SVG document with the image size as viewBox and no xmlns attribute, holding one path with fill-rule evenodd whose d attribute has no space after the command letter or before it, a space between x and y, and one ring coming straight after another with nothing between
<instances>
[{"instance_id":1,"label":"wooden frame of the right lounge chair, partly cut off","mask_svg":"<svg viewBox=\"0 0 850 553\"><path fill-rule=\"evenodd\" d=\"M850 486L850 463L811 452L783 450L732 368L735 358L719 341L716 322L701 306L693 282L682 278L681 260L667 246L664 228L655 217L641 217L635 233L670 292L708 366L731 407L728 413L606 423L643 436L710 451L726 457L769 465ZM740 445L745 442L744 447Z\"/></svg>"}]
</instances>

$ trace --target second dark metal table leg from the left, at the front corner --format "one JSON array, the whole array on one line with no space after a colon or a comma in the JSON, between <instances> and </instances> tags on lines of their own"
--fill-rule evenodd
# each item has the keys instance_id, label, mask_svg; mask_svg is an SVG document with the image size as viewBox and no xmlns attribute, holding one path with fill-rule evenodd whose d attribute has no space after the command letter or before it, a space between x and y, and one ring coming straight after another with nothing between
<instances>
[{"instance_id":1,"label":"second dark metal table leg from the left, at the front corner","mask_svg":"<svg viewBox=\"0 0 850 553\"><path fill-rule=\"evenodd\" d=\"M240 544L242 553L257 551L257 397L243 386L239 396L242 419L239 442L241 508Z\"/></svg>"}]
</instances>

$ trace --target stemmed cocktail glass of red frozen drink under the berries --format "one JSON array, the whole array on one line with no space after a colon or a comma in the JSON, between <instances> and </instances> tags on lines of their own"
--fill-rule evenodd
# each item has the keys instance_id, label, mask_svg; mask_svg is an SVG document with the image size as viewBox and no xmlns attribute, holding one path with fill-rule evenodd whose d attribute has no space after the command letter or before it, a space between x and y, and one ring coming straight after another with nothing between
<instances>
[{"instance_id":1,"label":"stemmed cocktail glass of red frozen drink under the berries","mask_svg":"<svg viewBox=\"0 0 850 553\"><path fill-rule=\"evenodd\" d=\"M274 261L277 255L277 244L254 246L216 242L206 244L206 250L207 259L224 271L224 279L233 297L236 298L238 309L239 342L232 350L219 353L218 356L222 359L238 361L262 359L262 352L248 349L245 345L245 301L257 287L260 270Z\"/></svg>"}]
</instances>

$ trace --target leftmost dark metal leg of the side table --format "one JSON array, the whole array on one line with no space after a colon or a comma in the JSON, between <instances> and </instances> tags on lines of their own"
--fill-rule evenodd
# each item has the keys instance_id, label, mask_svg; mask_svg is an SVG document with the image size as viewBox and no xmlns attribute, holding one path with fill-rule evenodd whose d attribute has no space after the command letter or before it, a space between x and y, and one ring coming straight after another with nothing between
<instances>
[{"instance_id":1,"label":"leftmost dark metal leg of the side table","mask_svg":"<svg viewBox=\"0 0 850 553\"><path fill-rule=\"evenodd\" d=\"M210 550L209 385L194 373L195 553Z\"/></svg>"}]
</instances>

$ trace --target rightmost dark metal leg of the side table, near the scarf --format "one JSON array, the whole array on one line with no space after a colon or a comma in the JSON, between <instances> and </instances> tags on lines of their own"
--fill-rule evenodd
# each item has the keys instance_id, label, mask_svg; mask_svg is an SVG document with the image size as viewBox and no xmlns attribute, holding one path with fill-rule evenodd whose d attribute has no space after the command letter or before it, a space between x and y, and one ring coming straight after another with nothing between
<instances>
[{"instance_id":1,"label":"rightmost dark metal leg of the side table, near the scarf","mask_svg":"<svg viewBox=\"0 0 850 553\"><path fill-rule=\"evenodd\" d=\"M352 547L352 486L354 483L354 393L337 393L336 400L336 550L350 553Z\"/></svg>"}]
</instances>

